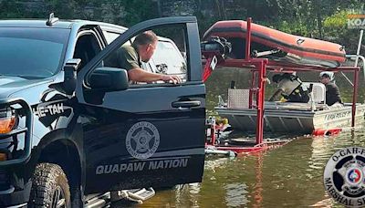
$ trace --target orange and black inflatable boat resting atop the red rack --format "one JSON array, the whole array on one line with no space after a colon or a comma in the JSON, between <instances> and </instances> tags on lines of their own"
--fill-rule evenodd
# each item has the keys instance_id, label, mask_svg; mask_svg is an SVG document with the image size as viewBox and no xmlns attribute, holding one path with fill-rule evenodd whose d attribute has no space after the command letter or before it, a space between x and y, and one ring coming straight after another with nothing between
<instances>
[{"instance_id":1,"label":"orange and black inflatable boat resting atop the red rack","mask_svg":"<svg viewBox=\"0 0 365 208\"><path fill-rule=\"evenodd\" d=\"M245 58L247 23L242 20L220 21L211 26L203 40L220 36L232 44L230 58ZM266 26L251 24L251 56L266 57L296 65L337 68L346 60L344 47L328 41L293 36Z\"/></svg>"}]
</instances>

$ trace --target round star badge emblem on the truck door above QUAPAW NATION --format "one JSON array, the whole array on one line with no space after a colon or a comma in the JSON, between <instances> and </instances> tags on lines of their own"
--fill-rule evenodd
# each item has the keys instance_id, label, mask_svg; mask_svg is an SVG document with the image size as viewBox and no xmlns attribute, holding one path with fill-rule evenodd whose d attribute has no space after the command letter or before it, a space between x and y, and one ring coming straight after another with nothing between
<instances>
[{"instance_id":1,"label":"round star badge emblem on the truck door above QUAPAW NATION","mask_svg":"<svg viewBox=\"0 0 365 208\"><path fill-rule=\"evenodd\" d=\"M126 147L130 155L137 159L151 157L160 144L160 133L147 121L135 123L127 133Z\"/></svg>"}]
</instances>

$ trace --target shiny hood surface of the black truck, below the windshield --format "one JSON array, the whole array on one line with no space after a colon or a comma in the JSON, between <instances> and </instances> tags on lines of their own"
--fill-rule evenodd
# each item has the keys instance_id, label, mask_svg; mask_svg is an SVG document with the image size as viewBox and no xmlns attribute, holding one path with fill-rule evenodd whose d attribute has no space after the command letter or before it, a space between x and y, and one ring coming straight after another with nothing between
<instances>
[{"instance_id":1,"label":"shiny hood surface of the black truck, below the windshield","mask_svg":"<svg viewBox=\"0 0 365 208\"><path fill-rule=\"evenodd\" d=\"M6 99L11 94L19 90L30 88L48 81L49 80L46 79L26 79L19 77L0 76L0 99Z\"/></svg>"}]
</instances>

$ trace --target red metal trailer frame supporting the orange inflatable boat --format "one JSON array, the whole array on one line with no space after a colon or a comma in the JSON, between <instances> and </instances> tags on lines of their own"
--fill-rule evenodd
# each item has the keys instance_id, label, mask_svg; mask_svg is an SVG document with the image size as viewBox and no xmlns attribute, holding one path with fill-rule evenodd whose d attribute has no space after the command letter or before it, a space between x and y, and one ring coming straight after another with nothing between
<instances>
[{"instance_id":1,"label":"red metal trailer frame supporting the orange inflatable boat","mask_svg":"<svg viewBox=\"0 0 365 208\"><path fill-rule=\"evenodd\" d=\"M355 126L355 112L356 103L358 97L358 86L359 86L359 73L360 68L357 67L358 59L360 58L365 62L364 57L360 56L359 50L357 55L346 55L347 58L355 57L356 64L355 67L338 67L338 68L323 68L316 66L305 66L297 65L293 63L278 62L275 60L270 60L268 58L252 57L251 44L252 44L252 18L247 18L247 26L245 31L245 58L243 59L228 59L224 57L225 53L229 53L232 49L230 43L224 38L213 37L211 40L204 41L202 43L202 55L205 57L205 64L203 67L203 82L209 78L211 73L214 71L216 66L221 67L233 67L233 68L249 68L252 72L252 82L251 88L249 88L249 109L256 109L256 128L255 128L255 143L246 143L242 145L229 145L220 144L217 142L217 136L219 136L220 131L217 130L216 124L214 122L207 121L208 137L206 140L206 153L232 155L231 151L235 154L247 154L255 153L260 151L266 151L272 148L282 146L289 142L290 140L274 140L267 141L264 140L264 104L265 104L265 86L268 82L266 78L266 71L274 72L295 72L295 71L351 71L353 72L353 92L352 92L352 109L351 109L351 128ZM362 34L362 32L361 32ZM360 35L362 39L362 35ZM231 48L230 48L231 47ZM276 51L271 51L271 53L276 53ZM256 54L257 55L257 54ZM266 54L264 54L265 56ZM255 55L254 55L255 56ZM365 72L365 66L364 66ZM347 78L343 73L342 75ZM349 80L349 78L347 78ZM254 101L255 100L255 101ZM219 129L219 128L218 128ZM315 130L314 134L316 136L321 135L333 135L339 133L340 130Z\"/></svg>"}]
</instances>

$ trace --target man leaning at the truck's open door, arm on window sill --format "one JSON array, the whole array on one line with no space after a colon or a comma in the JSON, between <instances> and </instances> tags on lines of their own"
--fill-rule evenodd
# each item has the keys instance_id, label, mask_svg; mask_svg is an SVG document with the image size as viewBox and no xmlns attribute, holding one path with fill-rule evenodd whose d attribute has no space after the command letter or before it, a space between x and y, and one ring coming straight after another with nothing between
<instances>
[{"instance_id":1,"label":"man leaning at the truck's open door, arm on window sill","mask_svg":"<svg viewBox=\"0 0 365 208\"><path fill-rule=\"evenodd\" d=\"M120 47L116 52L116 56L110 57L107 60L107 65L109 67L126 69L132 83L152 83L158 80L165 82L171 81L174 84L181 83L181 78L175 75L152 73L141 67L141 62L147 63L151 59L157 44L158 37L156 34L151 30L145 31L136 36L131 46Z\"/></svg>"}]
</instances>

